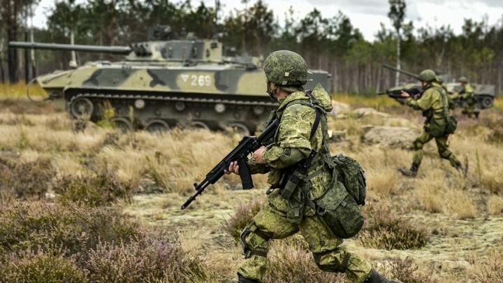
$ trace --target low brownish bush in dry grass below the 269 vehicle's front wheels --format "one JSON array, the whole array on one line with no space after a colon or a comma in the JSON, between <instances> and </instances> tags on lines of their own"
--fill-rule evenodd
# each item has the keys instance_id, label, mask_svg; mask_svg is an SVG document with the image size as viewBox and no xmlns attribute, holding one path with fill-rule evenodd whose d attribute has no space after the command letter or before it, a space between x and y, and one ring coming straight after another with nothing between
<instances>
[{"instance_id":1,"label":"low brownish bush in dry grass below the 269 vehicle's front wheels","mask_svg":"<svg viewBox=\"0 0 503 283\"><path fill-rule=\"evenodd\" d=\"M106 205L117 198L131 198L131 187L119 184L110 173L88 176L66 176L59 179L54 191L62 204L85 203L90 206Z\"/></svg>"}]
</instances>

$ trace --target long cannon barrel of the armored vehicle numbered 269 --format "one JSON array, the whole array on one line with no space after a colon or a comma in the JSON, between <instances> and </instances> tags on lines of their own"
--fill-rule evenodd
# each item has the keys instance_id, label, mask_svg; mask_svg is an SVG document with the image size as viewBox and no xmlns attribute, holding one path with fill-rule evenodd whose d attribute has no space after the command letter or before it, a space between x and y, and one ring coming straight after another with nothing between
<instances>
[{"instance_id":1,"label":"long cannon barrel of the armored vehicle numbered 269","mask_svg":"<svg viewBox=\"0 0 503 283\"><path fill-rule=\"evenodd\" d=\"M10 41L9 48L34 48L46 50L66 50L66 51L82 51L82 52L99 52L128 55L133 51L129 46L99 46L99 45L71 45L59 43L31 43L22 41Z\"/></svg>"}]
</instances>

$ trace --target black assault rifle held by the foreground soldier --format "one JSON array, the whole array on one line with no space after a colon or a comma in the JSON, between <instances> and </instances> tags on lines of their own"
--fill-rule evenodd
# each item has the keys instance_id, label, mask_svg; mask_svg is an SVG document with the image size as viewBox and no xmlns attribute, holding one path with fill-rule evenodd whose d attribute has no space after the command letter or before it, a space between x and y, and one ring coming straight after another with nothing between
<instances>
[{"instance_id":1,"label":"black assault rifle held by the foreground soldier","mask_svg":"<svg viewBox=\"0 0 503 283\"><path fill-rule=\"evenodd\" d=\"M245 136L238 143L236 147L234 147L229 154L227 154L224 159L222 159L217 166L214 166L209 173L206 174L205 179L198 183L194 183L194 189L196 190L196 194L191 196L187 201L182 205L182 210L187 208L191 204L192 201L196 199L197 196L203 194L203 191L210 184L216 183L220 178L224 175L224 170L228 169L228 166L233 161L238 161L239 165L239 175L241 178L241 184L243 189L251 189L254 187L253 180L251 179L251 173L248 168L248 155L258 150L258 147L262 145L268 145L272 143L272 138L276 133L276 130L279 126L279 119L275 119L272 123L270 123L260 136Z\"/></svg>"}]
</instances>

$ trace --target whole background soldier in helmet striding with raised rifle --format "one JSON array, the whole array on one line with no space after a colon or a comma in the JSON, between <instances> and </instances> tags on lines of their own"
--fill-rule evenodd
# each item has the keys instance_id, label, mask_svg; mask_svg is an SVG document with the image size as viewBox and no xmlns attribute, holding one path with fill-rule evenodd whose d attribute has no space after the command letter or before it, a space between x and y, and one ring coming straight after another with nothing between
<instances>
[{"instance_id":1,"label":"whole background soldier in helmet striding with raised rifle","mask_svg":"<svg viewBox=\"0 0 503 283\"><path fill-rule=\"evenodd\" d=\"M451 166L458 170L465 173L467 170L467 168L463 168L459 159L449 150L449 133L446 133L448 132L446 129L449 119L453 119L453 117L449 114L447 94L435 77L435 72L432 70L425 70L419 74L424 90L417 100L412 99L407 92L402 92L402 96L407 97L407 106L423 111L423 116L426 117L423 133L414 140L414 159L411 168L398 168L403 175L408 177L416 177L423 159L423 146L433 138L437 143L440 157L448 159Z\"/></svg>"}]
</instances>

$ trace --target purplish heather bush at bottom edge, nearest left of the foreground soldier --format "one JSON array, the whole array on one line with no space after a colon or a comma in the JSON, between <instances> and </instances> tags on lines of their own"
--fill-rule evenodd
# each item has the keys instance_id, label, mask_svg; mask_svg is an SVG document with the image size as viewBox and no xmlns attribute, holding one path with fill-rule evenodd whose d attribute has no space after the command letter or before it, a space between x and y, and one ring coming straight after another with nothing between
<instances>
[{"instance_id":1,"label":"purplish heather bush at bottom edge, nearest left of the foreground soldier","mask_svg":"<svg viewBox=\"0 0 503 283\"><path fill-rule=\"evenodd\" d=\"M186 254L176 238L143 237L99 245L89 253L86 267L96 282L207 282L201 262Z\"/></svg>"}]
</instances>

